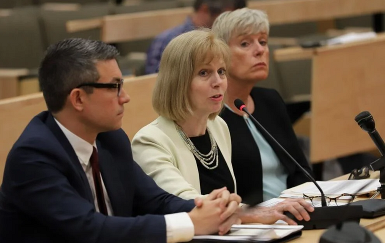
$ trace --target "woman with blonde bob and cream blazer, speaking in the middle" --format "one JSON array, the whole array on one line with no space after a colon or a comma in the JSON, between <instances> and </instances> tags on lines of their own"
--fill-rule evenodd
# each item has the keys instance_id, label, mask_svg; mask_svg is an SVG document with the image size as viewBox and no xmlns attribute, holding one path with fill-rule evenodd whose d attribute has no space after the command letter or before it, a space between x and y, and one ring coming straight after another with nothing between
<instances>
[{"instance_id":1,"label":"woman with blonde bob and cream blazer, speaking in the middle","mask_svg":"<svg viewBox=\"0 0 385 243\"><path fill-rule=\"evenodd\" d=\"M135 161L185 199L226 186L235 192L231 141L217 114L227 88L227 44L210 29L183 33L164 49L152 96L159 114L132 140Z\"/></svg>"}]
</instances>

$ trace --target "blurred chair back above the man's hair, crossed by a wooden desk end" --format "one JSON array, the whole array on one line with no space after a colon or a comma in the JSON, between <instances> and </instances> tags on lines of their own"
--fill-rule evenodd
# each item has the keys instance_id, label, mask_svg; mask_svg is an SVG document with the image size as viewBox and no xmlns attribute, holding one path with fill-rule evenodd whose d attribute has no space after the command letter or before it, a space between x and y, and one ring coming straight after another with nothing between
<instances>
[{"instance_id":1,"label":"blurred chair back above the man's hair, crossed by a wooden desk end","mask_svg":"<svg viewBox=\"0 0 385 243\"><path fill-rule=\"evenodd\" d=\"M76 6L76 5L75 5ZM68 33L65 23L72 19L88 19L108 15L113 5L108 3L77 5L76 9L60 10L41 8L41 25L44 31L45 45L55 43L69 37L100 39L100 29L90 29Z\"/></svg>"}]
</instances>

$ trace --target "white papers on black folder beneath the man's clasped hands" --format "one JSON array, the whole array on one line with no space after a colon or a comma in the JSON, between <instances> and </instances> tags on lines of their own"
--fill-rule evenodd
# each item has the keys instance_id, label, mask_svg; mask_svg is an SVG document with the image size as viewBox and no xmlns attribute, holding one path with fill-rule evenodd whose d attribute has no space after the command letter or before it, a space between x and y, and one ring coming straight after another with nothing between
<instances>
[{"instance_id":1,"label":"white papers on black folder beneath the man's clasped hands","mask_svg":"<svg viewBox=\"0 0 385 243\"><path fill-rule=\"evenodd\" d=\"M193 239L269 241L283 238L302 228L303 225L234 224L226 235L196 235Z\"/></svg>"}]
</instances>

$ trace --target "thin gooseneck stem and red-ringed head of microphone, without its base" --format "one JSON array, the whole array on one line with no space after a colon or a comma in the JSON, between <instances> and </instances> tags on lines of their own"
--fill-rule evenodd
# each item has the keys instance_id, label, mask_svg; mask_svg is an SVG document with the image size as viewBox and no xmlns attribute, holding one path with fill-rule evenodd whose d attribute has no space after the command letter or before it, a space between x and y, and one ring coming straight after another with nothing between
<instances>
[{"instance_id":1,"label":"thin gooseneck stem and red-ringed head of microphone, without its base","mask_svg":"<svg viewBox=\"0 0 385 243\"><path fill-rule=\"evenodd\" d=\"M282 145L277 141L275 140L275 138L250 114L250 112L248 112L247 108L246 108L246 105L243 103L242 100L240 99L235 99L234 100L234 105L237 109L245 112L248 114L248 116L255 122L255 124L258 126L259 129L263 130L273 141L274 143L276 143L280 149L282 149L282 151L290 158L291 161L293 161L296 166L306 175L306 177L311 180L315 186L318 188L319 192L321 193L321 205L322 206L327 206L326 204L326 198L325 198L325 194L323 193L323 190L321 189L321 187L318 185L318 183L315 181L315 179L313 178L313 176L311 176L309 174L309 172L306 171L306 169L304 169L291 155L290 153L288 153L286 151L286 149L284 149L282 147Z\"/></svg>"}]
</instances>

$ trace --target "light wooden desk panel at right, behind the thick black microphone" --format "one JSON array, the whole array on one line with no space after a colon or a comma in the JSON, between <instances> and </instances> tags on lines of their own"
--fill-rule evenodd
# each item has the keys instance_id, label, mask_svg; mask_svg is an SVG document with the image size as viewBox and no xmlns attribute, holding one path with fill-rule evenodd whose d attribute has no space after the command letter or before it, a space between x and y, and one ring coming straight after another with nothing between
<instances>
[{"instance_id":1,"label":"light wooden desk panel at right, behind the thick black microphone","mask_svg":"<svg viewBox=\"0 0 385 243\"><path fill-rule=\"evenodd\" d=\"M385 1L384 1L385 2ZM319 48L276 50L277 60L312 59L310 161L375 150L354 121L368 110L385 132L385 33L364 41ZM293 58L291 58L293 57Z\"/></svg>"}]
</instances>

